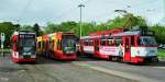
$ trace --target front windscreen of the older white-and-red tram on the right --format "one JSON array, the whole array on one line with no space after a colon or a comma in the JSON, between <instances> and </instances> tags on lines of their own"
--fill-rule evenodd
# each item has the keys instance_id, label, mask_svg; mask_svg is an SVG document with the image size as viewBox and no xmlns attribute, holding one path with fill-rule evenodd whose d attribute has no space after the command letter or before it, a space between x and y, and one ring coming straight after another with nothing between
<instances>
[{"instance_id":1,"label":"front windscreen of the older white-and-red tram on the right","mask_svg":"<svg viewBox=\"0 0 165 82\"><path fill-rule=\"evenodd\" d=\"M140 46L157 46L154 37L151 36L141 36Z\"/></svg>"}]
</instances>

